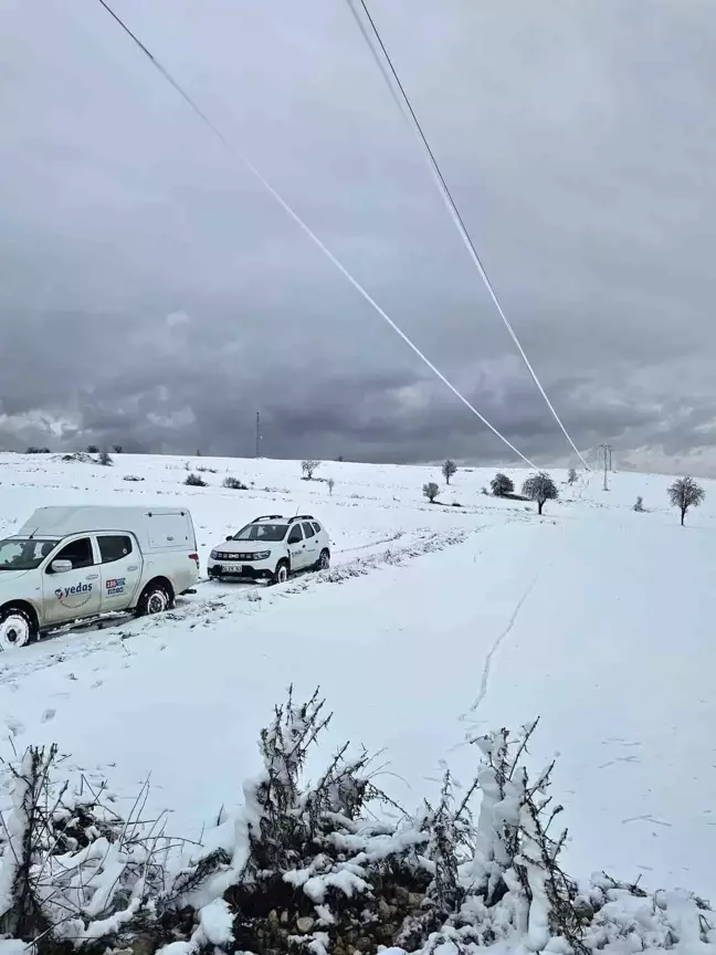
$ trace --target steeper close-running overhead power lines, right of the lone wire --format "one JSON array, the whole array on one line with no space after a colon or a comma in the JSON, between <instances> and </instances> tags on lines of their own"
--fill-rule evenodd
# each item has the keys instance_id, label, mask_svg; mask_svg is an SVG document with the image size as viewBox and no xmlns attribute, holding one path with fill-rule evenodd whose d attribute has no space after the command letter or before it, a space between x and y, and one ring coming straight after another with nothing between
<instances>
[{"instance_id":1,"label":"steeper close-running overhead power lines, right of the lone wire","mask_svg":"<svg viewBox=\"0 0 716 955\"><path fill-rule=\"evenodd\" d=\"M475 267L480 272L480 275L481 275L483 282L485 283L485 286L487 287L487 291L489 293L489 297L494 302L495 307L497 308L497 312L499 313L501 318L505 323L505 327L507 328L507 332L509 333L510 338L515 343L515 346L517 347L517 350L519 351L519 354L523 358L523 361L527 366L527 370L531 375L533 380L534 380L535 385L537 386L537 388L539 389L540 395L543 396L543 398L547 402L547 407L551 411L551 414L552 414L555 421L561 428L561 431L562 431L565 438L569 441L572 450L575 451L575 453L577 454L579 460L582 462L585 468L587 470L589 470L589 465L587 464L587 461L583 459L579 449L577 448L577 445L572 441L569 432L567 431L565 426L562 424L562 421L561 421L559 414L557 413L555 406L549 400L547 392L543 388L541 381L539 380L539 378L537 376L537 372L533 368L531 363L529 361L529 358L527 357L527 355L525 353L525 349L523 348L519 339L517 338L517 334L515 333L515 329L513 328L507 316L505 315L505 312L504 312L502 305L499 304L499 300L497 298L497 293L495 292L495 288L494 288L492 282L489 281L489 276L487 275L487 272L485 271L485 266L483 265L482 260L481 260L480 255L477 254L477 250L475 249L475 245L474 245L474 243L470 237L470 233L467 232L467 227L465 225L465 222L457 210L457 206L455 204L455 201L452 197L452 193L448 187L448 183L445 182L445 179L443 178L443 175L440 170L440 166L438 165L438 160L435 159L435 156L434 156L434 154L430 147L430 144L428 141L428 138L427 138L425 134L423 133L422 126L420 125L420 120L418 119L418 116L415 115L415 112L414 112L414 109L410 103L410 98L409 98L408 94L406 93L406 88L402 85L402 83L400 82L400 77L398 76L396 67L392 64L392 60L390 59L390 54L388 53L388 50L386 49L386 45L382 42L382 39L380 36L380 32L378 31L378 27L376 25L375 20L370 15L370 11L368 10L368 7L366 6L365 0L347 0L347 2L348 2L348 6L350 7L350 10L351 10L355 19L356 19L356 22L358 23L358 27L360 29L360 32L362 33L364 39L365 39L366 43L368 44L368 48L369 48L370 52L372 53L372 56L373 56L376 63L378 64L386 83L388 84L388 88L390 90L390 93L391 93L393 99L396 101L398 108L400 109L402 116L408 122L408 124L410 125L410 127L413 129L413 132L415 133L415 135L418 137L418 141L422 147L423 155L424 155L424 157L428 161L428 165L429 165L429 167L433 174L433 177L435 179L435 182L438 185L440 193L443 197L445 206L448 207L448 211L450 212L455 225L457 227L457 231L462 235L463 242L465 243L465 246L467 248L470 256L473 260ZM364 17L360 15L360 12L357 8L358 3L362 8L365 19L364 19ZM367 23L366 23L366 21L367 21ZM378 44L378 49L380 50L380 53L378 52L376 43ZM380 55L381 53L382 53L382 56Z\"/></svg>"}]
</instances>

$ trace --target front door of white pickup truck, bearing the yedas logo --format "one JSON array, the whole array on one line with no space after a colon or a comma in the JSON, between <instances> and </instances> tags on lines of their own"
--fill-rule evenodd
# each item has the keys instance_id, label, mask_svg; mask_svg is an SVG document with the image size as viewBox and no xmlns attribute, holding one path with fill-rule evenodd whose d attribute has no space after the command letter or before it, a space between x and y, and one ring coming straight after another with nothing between
<instances>
[{"instance_id":1,"label":"front door of white pickup truck, bearing the yedas logo","mask_svg":"<svg viewBox=\"0 0 716 955\"><path fill-rule=\"evenodd\" d=\"M69 560L72 570L53 574L54 560ZM70 539L43 566L42 606L43 627L96 617L99 612L99 567L91 536Z\"/></svg>"}]
</instances>

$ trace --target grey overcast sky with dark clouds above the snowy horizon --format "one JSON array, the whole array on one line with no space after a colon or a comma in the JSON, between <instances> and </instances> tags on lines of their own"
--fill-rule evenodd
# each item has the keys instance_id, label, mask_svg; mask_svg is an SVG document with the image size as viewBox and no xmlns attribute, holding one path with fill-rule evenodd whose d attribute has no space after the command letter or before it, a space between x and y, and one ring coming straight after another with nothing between
<instances>
[{"instance_id":1,"label":"grey overcast sky with dark clouds above the snowy horizon","mask_svg":"<svg viewBox=\"0 0 716 955\"><path fill-rule=\"evenodd\" d=\"M713 0L369 0L578 447L716 474ZM114 0L525 454L569 447L345 0ZM508 461L96 0L0 8L0 445Z\"/></svg>"}]
</instances>

